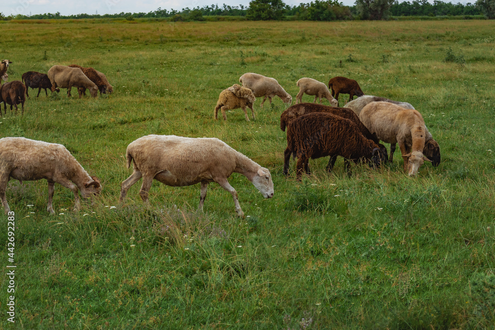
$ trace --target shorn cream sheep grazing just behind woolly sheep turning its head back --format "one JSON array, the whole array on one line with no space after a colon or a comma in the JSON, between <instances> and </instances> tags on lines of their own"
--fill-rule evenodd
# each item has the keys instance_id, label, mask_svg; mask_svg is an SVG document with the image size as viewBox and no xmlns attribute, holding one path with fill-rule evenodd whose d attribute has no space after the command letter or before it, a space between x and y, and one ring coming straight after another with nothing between
<instances>
[{"instance_id":1,"label":"shorn cream sheep grazing just behind woolly sheep turning its head back","mask_svg":"<svg viewBox=\"0 0 495 330\"><path fill-rule=\"evenodd\" d=\"M243 87L246 87L252 91L255 97L263 97L260 106L263 106L266 98L270 104L272 103L272 97L278 96L287 105L292 104L292 96L287 93L278 81L274 78L265 77L257 73L245 73L239 78L239 82Z\"/></svg>"}]
</instances>

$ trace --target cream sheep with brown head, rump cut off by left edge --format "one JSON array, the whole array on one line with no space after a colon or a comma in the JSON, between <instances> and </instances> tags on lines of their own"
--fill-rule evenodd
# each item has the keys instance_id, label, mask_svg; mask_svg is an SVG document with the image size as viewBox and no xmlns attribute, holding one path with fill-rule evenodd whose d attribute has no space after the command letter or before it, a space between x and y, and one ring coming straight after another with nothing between
<instances>
[{"instance_id":1,"label":"cream sheep with brown head, rump cut off by left edge","mask_svg":"<svg viewBox=\"0 0 495 330\"><path fill-rule=\"evenodd\" d=\"M5 189L10 178L22 181L48 181L48 207L54 214L52 199L54 183L74 193L74 211L80 209L78 189L83 198L101 192L97 177L91 177L62 144L25 138L0 139L0 200L5 213L10 211Z\"/></svg>"}]
</instances>

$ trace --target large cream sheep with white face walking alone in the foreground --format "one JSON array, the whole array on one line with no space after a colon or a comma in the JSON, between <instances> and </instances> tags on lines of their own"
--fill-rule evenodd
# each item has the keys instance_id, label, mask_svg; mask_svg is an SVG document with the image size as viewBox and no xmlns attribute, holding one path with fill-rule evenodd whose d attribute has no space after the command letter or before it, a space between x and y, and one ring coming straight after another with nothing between
<instances>
[{"instance_id":1,"label":"large cream sheep with white face walking alone in the foreground","mask_svg":"<svg viewBox=\"0 0 495 330\"><path fill-rule=\"evenodd\" d=\"M234 198L236 212L244 217L237 191L227 179L241 173L265 198L273 197L273 182L268 169L259 166L225 142L215 138L183 138L175 135L148 135L131 142L126 151L127 167L134 172L122 182L120 201L141 177L140 196L146 202L153 179L172 187L200 183L199 207L203 210L208 183L216 182Z\"/></svg>"}]
</instances>

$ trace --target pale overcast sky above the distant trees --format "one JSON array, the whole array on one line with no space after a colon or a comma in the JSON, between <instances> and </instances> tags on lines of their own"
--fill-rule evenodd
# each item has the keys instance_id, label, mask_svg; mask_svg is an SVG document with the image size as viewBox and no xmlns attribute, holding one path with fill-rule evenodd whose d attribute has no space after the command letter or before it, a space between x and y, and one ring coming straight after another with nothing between
<instances>
[{"instance_id":1,"label":"pale overcast sky above the distant trees","mask_svg":"<svg viewBox=\"0 0 495 330\"><path fill-rule=\"evenodd\" d=\"M32 15L43 13L55 13L62 15L71 14L115 14L120 12L149 12L161 7L162 9L194 8L223 3L231 6L249 5L250 0L1 0L0 12L8 16L13 14ZM286 4L298 5L301 2L311 2L311 0L284 0ZM355 0L341 0L345 5L353 5ZM402 2L402 0L399 0ZM433 2L433 0L430 0ZM451 2L466 3L464 0L453 0ZM472 0L471 2L475 2Z\"/></svg>"}]
</instances>

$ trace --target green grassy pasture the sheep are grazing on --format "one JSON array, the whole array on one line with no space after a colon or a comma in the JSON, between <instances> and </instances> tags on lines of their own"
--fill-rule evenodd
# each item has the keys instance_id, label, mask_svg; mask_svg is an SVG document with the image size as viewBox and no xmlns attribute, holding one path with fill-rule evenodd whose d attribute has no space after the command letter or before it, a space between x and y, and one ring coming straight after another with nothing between
<instances>
[{"instance_id":1,"label":"green grassy pasture the sheep are grazing on","mask_svg":"<svg viewBox=\"0 0 495 330\"><path fill-rule=\"evenodd\" d=\"M81 212L55 185L49 216L46 181L9 183L16 322L6 320L2 267L0 328L493 329L493 22L0 27L0 57L13 62L9 81L77 63L105 73L115 91L78 99L75 89L71 98L30 90L23 117L7 111L0 119L0 137L62 143L103 184L97 204ZM294 100L301 77L346 76L366 94L409 102L439 142L442 162L408 178L397 148L393 164L353 164L350 178L342 158L331 174L327 158L311 160L313 175L302 182L291 161L286 178L278 97L264 109L256 101L256 120L246 122L241 109L213 120L218 94L246 72L276 78ZM148 134L219 138L270 169L275 195L263 199L233 174L246 219L216 184L204 213L196 211L198 185L154 183L146 206L139 182L119 205L120 183L132 172L125 149Z\"/></svg>"}]
</instances>

